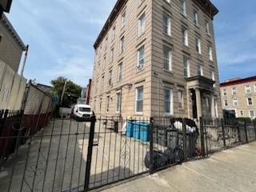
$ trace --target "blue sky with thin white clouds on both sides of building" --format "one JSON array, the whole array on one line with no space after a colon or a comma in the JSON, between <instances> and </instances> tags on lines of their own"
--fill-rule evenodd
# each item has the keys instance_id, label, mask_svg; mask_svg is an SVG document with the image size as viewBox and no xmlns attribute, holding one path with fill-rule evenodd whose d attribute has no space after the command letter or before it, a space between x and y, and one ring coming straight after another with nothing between
<instances>
[{"instance_id":1,"label":"blue sky with thin white clouds on both sides of building","mask_svg":"<svg viewBox=\"0 0 256 192\"><path fill-rule=\"evenodd\" d=\"M14 0L7 17L30 45L25 76L50 84L58 76L86 86L93 44L116 0ZM256 75L255 0L212 0L221 81Z\"/></svg>"}]
</instances>

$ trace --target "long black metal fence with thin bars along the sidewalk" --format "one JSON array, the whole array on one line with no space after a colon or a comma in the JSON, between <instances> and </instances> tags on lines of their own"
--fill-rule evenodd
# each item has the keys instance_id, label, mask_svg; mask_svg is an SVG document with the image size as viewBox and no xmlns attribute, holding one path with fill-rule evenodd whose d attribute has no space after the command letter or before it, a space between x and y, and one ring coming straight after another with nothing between
<instances>
[{"instance_id":1,"label":"long black metal fence with thin bars along the sidewalk","mask_svg":"<svg viewBox=\"0 0 256 192\"><path fill-rule=\"evenodd\" d=\"M255 125L167 117L52 118L37 134L1 137L24 142L4 159L0 191L93 190L255 141Z\"/></svg>"}]
</instances>

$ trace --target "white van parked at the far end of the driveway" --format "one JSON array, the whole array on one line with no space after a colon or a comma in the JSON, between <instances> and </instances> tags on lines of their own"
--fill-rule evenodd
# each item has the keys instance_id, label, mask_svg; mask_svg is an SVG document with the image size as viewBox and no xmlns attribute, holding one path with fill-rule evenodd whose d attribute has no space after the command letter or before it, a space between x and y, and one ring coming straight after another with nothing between
<instances>
[{"instance_id":1,"label":"white van parked at the far end of the driveway","mask_svg":"<svg viewBox=\"0 0 256 192\"><path fill-rule=\"evenodd\" d=\"M82 105L78 104L74 106L74 119L79 121L83 120L85 118L90 118L92 116L93 112L88 105Z\"/></svg>"}]
</instances>

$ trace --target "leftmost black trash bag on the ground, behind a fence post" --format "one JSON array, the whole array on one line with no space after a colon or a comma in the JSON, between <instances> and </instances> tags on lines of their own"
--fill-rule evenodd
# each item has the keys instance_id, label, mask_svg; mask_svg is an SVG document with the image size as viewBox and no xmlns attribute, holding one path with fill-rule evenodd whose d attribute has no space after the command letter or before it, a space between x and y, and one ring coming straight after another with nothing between
<instances>
[{"instance_id":1,"label":"leftmost black trash bag on the ground, behind a fence post","mask_svg":"<svg viewBox=\"0 0 256 192\"><path fill-rule=\"evenodd\" d=\"M162 153L161 151L153 151L153 169L157 170L159 168L167 166L168 158L166 157L166 154ZM146 156L144 159L144 163L146 168L150 169L150 151L146 152Z\"/></svg>"}]
</instances>

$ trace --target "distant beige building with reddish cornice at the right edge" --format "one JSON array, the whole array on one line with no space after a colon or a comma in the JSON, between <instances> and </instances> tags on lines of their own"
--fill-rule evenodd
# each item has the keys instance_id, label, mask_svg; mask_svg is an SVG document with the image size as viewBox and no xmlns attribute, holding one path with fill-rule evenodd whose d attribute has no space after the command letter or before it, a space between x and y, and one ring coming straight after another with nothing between
<instances>
[{"instance_id":1,"label":"distant beige building with reddish cornice at the right edge","mask_svg":"<svg viewBox=\"0 0 256 192\"><path fill-rule=\"evenodd\" d=\"M222 107L237 118L256 118L256 76L234 78L221 83Z\"/></svg>"}]
</instances>

